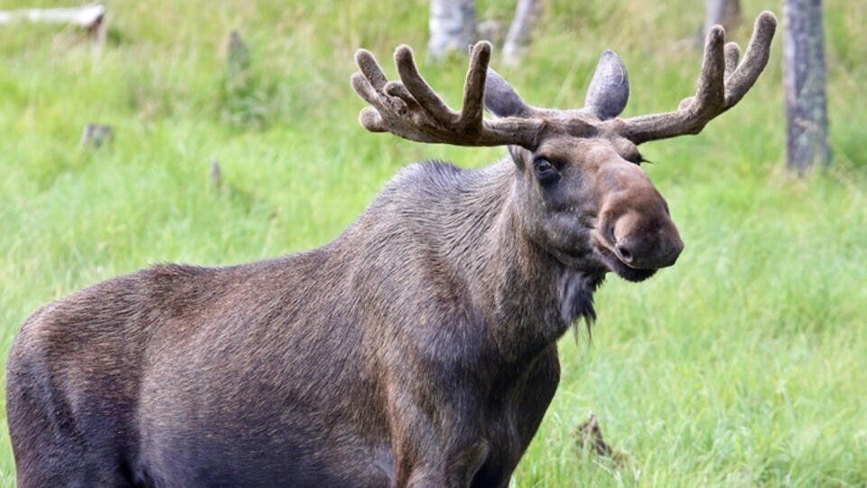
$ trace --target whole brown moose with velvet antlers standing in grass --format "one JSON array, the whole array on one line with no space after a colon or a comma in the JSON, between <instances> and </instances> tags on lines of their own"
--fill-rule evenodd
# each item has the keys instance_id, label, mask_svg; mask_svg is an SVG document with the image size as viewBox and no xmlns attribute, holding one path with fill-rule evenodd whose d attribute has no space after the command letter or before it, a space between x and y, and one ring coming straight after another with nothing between
<instances>
[{"instance_id":1,"label":"whole brown moose with velvet antlers standing in grass","mask_svg":"<svg viewBox=\"0 0 867 488\"><path fill-rule=\"evenodd\" d=\"M18 485L507 486L555 394L557 339L593 320L607 273L644 280L684 247L637 145L738 103L775 28L760 14L739 62L714 27L695 96L629 118L610 51L585 106L555 110L478 42L456 112L408 47L400 80L359 50L363 127L508 157L413 164L318 249L158 265L42 307L7 362Z\"/></svg>"}]
</instances>

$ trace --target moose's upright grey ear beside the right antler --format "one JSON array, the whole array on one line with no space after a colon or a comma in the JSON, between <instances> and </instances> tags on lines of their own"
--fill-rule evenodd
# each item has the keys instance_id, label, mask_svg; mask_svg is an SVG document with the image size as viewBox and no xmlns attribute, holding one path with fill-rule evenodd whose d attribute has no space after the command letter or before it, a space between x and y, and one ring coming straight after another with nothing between
<instances>
[{"instance_id":1,"label":"moose's upright grey ear beside the right antler","mask_svg":"<svg viewBox=\"0 0 867 488\"><path fill-rule=\"evenodd\" d=\"M602 52L587 89L584 108L600 120L620 115L629 100L629 77L623 61L611 50Z\"/></svg>"}]
</instances>

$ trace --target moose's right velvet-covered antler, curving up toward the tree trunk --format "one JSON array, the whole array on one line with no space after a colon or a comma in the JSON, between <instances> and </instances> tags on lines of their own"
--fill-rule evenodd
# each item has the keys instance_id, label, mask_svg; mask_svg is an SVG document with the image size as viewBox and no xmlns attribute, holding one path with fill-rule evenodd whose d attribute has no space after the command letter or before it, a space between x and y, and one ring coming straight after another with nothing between
<instances>
[{"instance_id":1,"label":"moose's right velvet-covered antler, curving up toward the tree trunk","mask_svg":"<svg viewBox=\"0 0 867 488\"><path fill-rule=\"evenodd\" d=\"M738 66L741 49L725 43L725 31L714 25L704 43L704 62L695 97L680 102L674 112L631 117L620 121L620 133L636 144L684 134L698 134L713 117L734 107L752 87L768 64L770 41L777 18L762 12L747 52Z\"/></svg>"}]
</instances>

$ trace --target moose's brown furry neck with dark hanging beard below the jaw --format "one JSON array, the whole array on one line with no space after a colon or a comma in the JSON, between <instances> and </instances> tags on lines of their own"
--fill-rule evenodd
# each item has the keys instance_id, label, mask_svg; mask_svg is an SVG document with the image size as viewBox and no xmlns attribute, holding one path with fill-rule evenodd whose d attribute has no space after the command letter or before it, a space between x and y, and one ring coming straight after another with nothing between
<instances>
[{"instance_id":1,"label":"moose's brown furry neck with dark hanging beard below the jaw","mask_svg":"<svg viewBox=\"0 0 867 488\"><path fill-rule=\"evenodd\" d=\"M468 284L499 357L532 360L574 321L594 318L592 292L602 277L564 266L530 239L510 159L475 173L443 202L450 218L437 247Z\"/></svg>"}]
</instances>

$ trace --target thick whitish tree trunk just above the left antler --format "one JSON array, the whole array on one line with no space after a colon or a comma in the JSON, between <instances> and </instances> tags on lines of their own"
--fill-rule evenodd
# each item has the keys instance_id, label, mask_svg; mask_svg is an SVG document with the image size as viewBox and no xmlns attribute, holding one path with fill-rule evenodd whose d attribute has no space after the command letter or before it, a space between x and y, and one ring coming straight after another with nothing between
<instances>
[{"instance_id":1,"label":"thick whitish tree trunk just above the left antler","mask_svg":"<svg viewBox=\"0 0 867 488\"><path fill-rule=\"evenodd\" d=\"M431 37L428 58L436 61L450 52L467 52L475 41L476 14L473 0L431 0Z\"/></svg>"}]
</instances>

